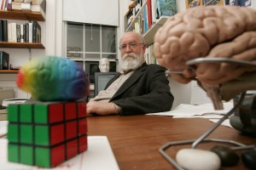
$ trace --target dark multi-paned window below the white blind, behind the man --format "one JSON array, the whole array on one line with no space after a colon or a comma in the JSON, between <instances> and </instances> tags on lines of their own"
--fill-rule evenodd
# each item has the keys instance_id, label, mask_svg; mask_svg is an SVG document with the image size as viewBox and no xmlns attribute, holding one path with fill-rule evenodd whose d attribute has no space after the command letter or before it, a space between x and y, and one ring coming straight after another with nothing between
<instances>
[{"instance_id":1,"label":"dark multi-paned window below the white blind, behind the man","mask_svg":"<svg viewBox=\"0 0 256 170\"><path fill-rule=\"evenodd\" d=\"M110 71L116 71L117 27L67 22L67 57L79 62L94 83L102 58L110 61Z\"/></svg>"}]
</instances>

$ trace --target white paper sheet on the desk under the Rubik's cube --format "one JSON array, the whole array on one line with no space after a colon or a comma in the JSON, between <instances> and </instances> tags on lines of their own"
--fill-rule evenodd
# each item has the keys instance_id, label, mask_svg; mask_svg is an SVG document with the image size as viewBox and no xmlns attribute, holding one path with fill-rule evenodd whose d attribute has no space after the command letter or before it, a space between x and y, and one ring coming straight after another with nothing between
<instances>
[{"instance_id":1,"label":"white paper sheet on the desk under the Rubik's cube","mask_svg":"<svg viewBox=\"0 0 256 170\"><path fill-rule=\"evenodd\" d=\"M55 168L27 166L7 160L7 139L0 139L0 169L4 170L119 170L106 136L88 136L88 150Z\"/></svg>"}]
</instances>

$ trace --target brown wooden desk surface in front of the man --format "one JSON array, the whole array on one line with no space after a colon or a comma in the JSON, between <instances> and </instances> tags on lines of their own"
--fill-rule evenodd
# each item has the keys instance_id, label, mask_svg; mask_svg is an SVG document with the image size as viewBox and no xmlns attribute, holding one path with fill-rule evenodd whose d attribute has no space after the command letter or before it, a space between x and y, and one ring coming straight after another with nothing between
<instances>
[{"instance_id":1,"label":"brown wooden desk surface in front of the man","mask_svg":"<svg viewBox=\"0 0 256 170\"><path fill-rule=\"evenodd\" d=\"M121 170L174 169L172 164L160 154L159 148L172 141L197 139L212 125L213 123L207 119L172 119L171 116L88 117L89 135L108 137ZM208 138L233 139L242 144L256 144L256 138L242 136L235 129L224 126L218 127ZM214 145L217 144L204 143L199 144L198 148L210 150ZM177 150L185 147L190 148L191 145L174 146L167 151L174 158ZM221 169L247 168L240 161L236 167L222 167Z\"/></svg>"}]
</instances>

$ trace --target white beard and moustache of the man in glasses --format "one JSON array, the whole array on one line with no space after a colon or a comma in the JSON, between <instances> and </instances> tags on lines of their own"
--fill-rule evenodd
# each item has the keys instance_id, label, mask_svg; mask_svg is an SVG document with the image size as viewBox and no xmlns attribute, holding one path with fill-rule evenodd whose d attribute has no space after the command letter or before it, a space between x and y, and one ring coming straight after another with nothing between
<instances>
[{"instance_id":1,"label":"white beard and moustache of the man in glasses","mask_svg":"<svg viewBox=\"0 0 256 170\"><path fill-rule=\"evenodd\" d=\"M123 72L135 71L138 67L143 65L144 62L143 54L124 54L121 59L123 61L121 71Z\"/></svg>"}]
</instances>

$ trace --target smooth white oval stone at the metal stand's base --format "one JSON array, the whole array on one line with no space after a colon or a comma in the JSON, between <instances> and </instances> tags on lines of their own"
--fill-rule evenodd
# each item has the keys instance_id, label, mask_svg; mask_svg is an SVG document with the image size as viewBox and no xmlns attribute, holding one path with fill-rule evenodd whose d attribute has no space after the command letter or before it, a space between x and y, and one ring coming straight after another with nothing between
<instances>
[{"instance_id":1,"label":"smooth white oval stone at the metal stand's base","mask_svg":"<svg viewBox=\"0 0 256 170\"><path fill-rule=\"evenodd\" d=\"M189 170L217 170L221 166L218 155L208 150L179 150L176 161L181 167Z\"/></svg>"}]
</instances>

